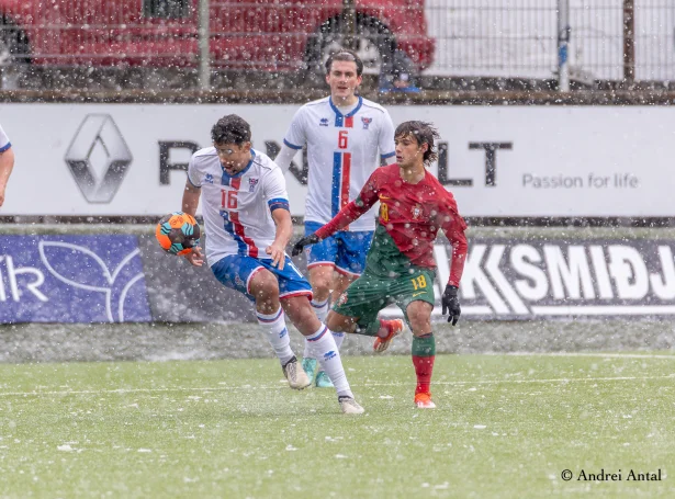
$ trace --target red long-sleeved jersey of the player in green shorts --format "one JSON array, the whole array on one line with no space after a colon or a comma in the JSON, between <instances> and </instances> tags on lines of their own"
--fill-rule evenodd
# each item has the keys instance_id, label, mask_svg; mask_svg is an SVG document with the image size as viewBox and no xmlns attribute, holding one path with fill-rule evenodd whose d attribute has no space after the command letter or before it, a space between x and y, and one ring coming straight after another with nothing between
<instances>
[{"instance_id":1,"label":"red long-sleeved jersey of the player in green shorts","mask_svg":"<svg viewBox=\"0 0 675 499\"><path fill-rule=\"evenodd\" d=\"M359 196L345 206L328 224L316 231L325 239L349 225L380 201L379 227L371 245L371 253L382 252L397 259L386 248L391 238L395 250L408 265L435 268L434 241L443 229L452 245L452 265L449 284L459 286L466 257L466 223L460 216L454 197L428 171L416 184L403 180L398 165L378 168L368 179ZM385 254L381 254L381 260ZM376 264L374 259L371 261ZM391 268L391 265L390 265Z\"/></svg>"}]
</instances>

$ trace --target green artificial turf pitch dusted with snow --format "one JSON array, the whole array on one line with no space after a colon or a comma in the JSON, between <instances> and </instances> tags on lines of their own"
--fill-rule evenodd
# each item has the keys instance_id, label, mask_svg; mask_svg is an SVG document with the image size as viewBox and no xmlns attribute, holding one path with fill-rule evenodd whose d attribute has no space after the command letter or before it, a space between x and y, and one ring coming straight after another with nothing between
<instances>
[{"instance_id":1,"label":"green artificial turf pitch dusted with snow","mask_svg":"<svg viewBox=\"0 0 675 499\"><path fill-rule=\"evenodd\" d=\"M439 355L435 410L344 362L363 416L272 359L0 365L0 496L675 497L675 355Z\"/></svg>"}]
</instances>

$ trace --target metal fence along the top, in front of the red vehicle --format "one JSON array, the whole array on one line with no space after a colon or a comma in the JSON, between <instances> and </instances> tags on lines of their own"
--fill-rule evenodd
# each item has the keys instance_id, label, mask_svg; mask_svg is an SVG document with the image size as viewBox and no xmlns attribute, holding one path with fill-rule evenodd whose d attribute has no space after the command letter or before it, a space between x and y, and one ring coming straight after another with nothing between
<instances>
[{"instance_id":1,"label":"metal fence along the top, in front of the red vehicle","mask_svg":"<svg viewBox=\"0 0 675 499\"><path fill-rule=\"evenodd\" d=\"M349 35L346 26L355 30L353 15L351 23L341 22L355 9L353 44L369 58L371 72L389 67L387 50L397 44L424 75L439 78L675 81L673 0L4 0L0 5L5 68L199 68L199 86L206 89L213 70L320 68L324 50ZM569 5L567 23L559 26L561 5ZM561 42L565 73L559 71Z\"/></svg>"}]
</instances>

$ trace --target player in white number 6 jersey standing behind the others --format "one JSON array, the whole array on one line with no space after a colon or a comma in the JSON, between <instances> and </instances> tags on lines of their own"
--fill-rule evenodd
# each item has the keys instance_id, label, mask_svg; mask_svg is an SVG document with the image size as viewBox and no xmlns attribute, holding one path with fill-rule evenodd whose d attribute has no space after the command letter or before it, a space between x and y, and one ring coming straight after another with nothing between
<instances>
[{"instance_id":1,"label":"player in white number 6 jersey standing behind the others","mask_svg":"<svg viewBox=\"0 0 675 499\"><path fill-rule=\"evenodd\" d=\"M351 50L342 49L326 61L326 82L330 95L303 105L293 117L275 162L286 171L293 156L307 146L310 166L305 203L305 236L330 222L353 201L381 161L395 162L394 125L384 107L357 95L363 63ZM355 220L341 231L312 246L307 251L312 306L320 320L333 302L365 266L365 254L375 229L374 212ZM335 277L334 277L335 275ZM386 329L403 329L403 321L383 321ZM340 348L344 333L334 333ZM318 370L305 344L303 368L318 387L331 386ZM316 377L314 378L314 376Z\"/></svg>"}]
</instances>

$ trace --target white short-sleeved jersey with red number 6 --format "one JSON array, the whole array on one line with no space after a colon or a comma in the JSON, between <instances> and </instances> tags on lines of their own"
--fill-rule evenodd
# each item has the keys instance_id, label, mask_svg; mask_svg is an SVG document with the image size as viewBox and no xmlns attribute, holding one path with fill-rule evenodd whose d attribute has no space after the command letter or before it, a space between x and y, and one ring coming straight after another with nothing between
<instances>
[{"instance_id":1,"label":"white short-sleeved jersey with red number 6","mask_svg":"<svg viewBox=\"0 0 675 499\"><path fill-rule=\"evenodd\" d=\"M342 114L327 97L303 105L293 116L284 144L307 145L310 163L305 220L328 223L355 200L380 160L394 152L394 124L384 107L359 97L353 110ZM374 214L349 230L373 230Z\"/></svg>"}]
</instances>

